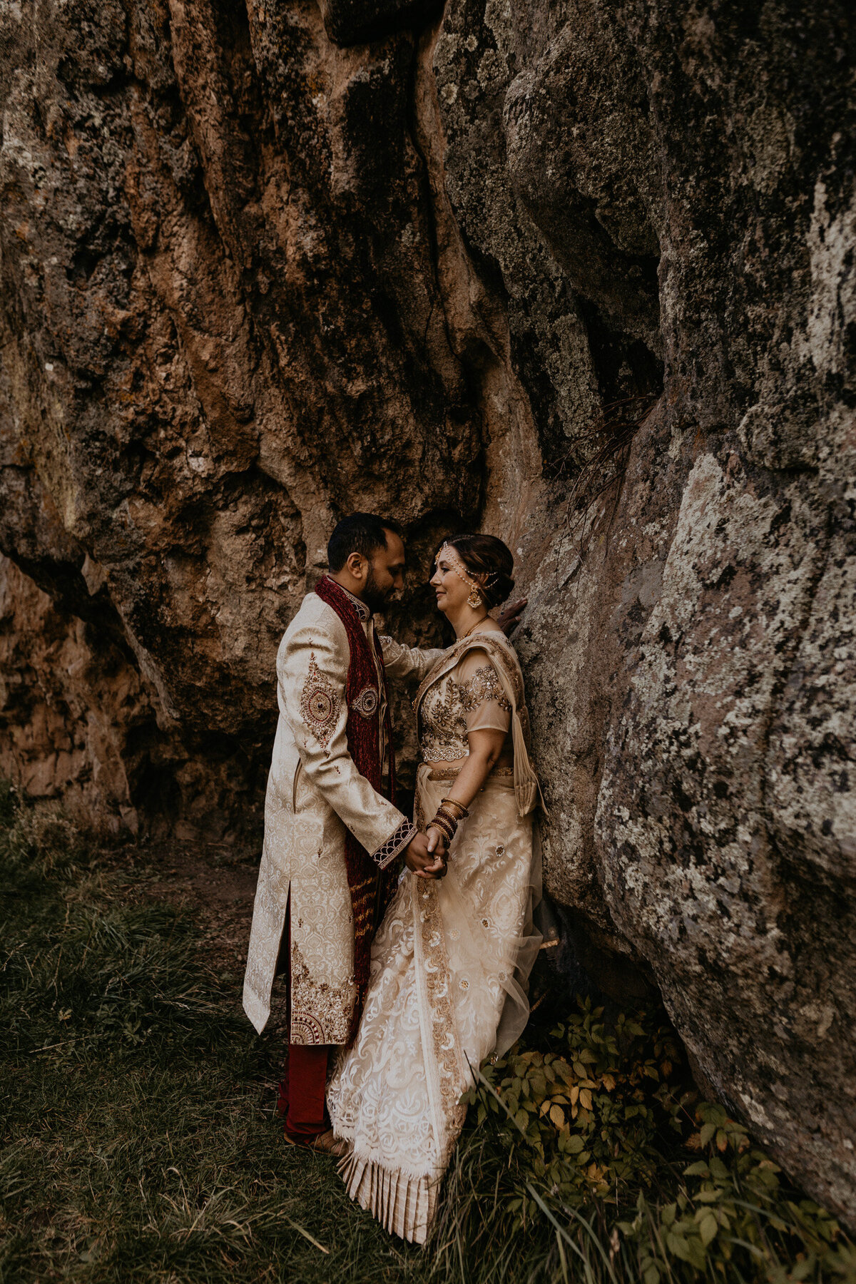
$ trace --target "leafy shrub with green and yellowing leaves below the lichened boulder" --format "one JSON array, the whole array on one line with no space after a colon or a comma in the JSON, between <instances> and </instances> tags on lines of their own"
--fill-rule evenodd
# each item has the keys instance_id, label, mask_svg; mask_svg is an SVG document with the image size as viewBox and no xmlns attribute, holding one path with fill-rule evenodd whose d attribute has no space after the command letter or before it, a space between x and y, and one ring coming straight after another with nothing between
<instances>
[{"instance_id":1,"label":"leafy shrub with green and yellowing leaves below the lichened boulder","mask_svg":"<svg viewBox=\"0 0 856 1284\"><path fill-rule=\"evenodd\" d=\"M578 1007L549 1050L516 1045L466 1097L475 1135L492 1131L480 1167L490 1144L506 1153L494 1204L517 1234L552 1228L554 1252L533 1280L569 1279L570 1258L611 1284L856 1280L834 1217L698 1099L662 1009L607 1019L590 1000ZM688 1163L693 1152L703 1158Z\"/></svg>"}]
</instances>

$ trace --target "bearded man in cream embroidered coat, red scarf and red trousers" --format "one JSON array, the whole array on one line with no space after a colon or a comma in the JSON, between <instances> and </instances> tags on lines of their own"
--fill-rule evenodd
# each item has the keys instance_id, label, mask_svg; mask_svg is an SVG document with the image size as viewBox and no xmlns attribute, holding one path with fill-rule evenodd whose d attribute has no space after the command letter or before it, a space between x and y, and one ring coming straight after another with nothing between
<instances>
[{"instance_id":1,"label":"bearded man in cream embroidered coat, red scarf and red trousers","mask_svg":"<svg viewBox=\"0 0 856 1284\"><path fill-rule=\"evenodd\" d=\"M445 854L429 851L394 802L386 674L422 678L443 655L375 634L373 612L404 587L400 528L352 514L334 530L327 562L277 654L280 720L244 978L244 1011L261 1032L285 957L285 1132L320 1149L332 1148L327 1057L359 1022L393 862L403 855L420 877L445 873Z\"/></svg>"}]
</instances>

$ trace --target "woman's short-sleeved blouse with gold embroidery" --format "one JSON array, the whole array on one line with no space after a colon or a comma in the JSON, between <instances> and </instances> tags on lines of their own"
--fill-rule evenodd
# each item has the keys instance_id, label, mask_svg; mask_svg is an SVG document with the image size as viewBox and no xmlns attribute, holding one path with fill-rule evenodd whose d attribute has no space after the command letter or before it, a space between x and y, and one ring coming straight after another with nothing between
<instances>
[{"instance_id":1,"label":"woman's short-sleeved blouse with gold embroidery","mask_svg":"<svg viewBox=\"0 0 856 1284\"><path fill-rule=\"evenodd\" d=\"M465 651L454 669L425 692L418 711L422 761L453 763L470 752L471 731L503 731L511 705L490 657L480 647Z\"/></svg>"}]
</instances>

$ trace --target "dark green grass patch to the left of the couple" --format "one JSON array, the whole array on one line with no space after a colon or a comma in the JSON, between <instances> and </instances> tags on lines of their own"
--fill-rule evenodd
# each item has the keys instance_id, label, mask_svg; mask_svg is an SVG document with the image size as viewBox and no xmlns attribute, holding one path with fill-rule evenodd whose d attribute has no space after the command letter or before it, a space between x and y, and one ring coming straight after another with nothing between
<instances>
[{"instance_id":1,"label":"dark green grass patch to the left of the couple","mask_svg":"<svg viewBox=\"0 0 856 1284\"><path fill-rule=\"evenodd\" d=\"M427 1279L284 1143L281 1044L189 915L62 818L5 813L3 1284Z\"/></svg>"}]
</instances>

